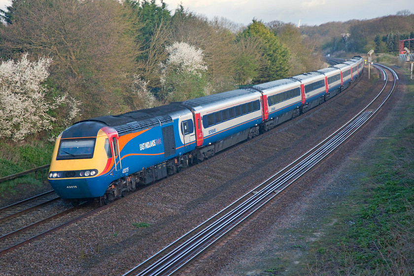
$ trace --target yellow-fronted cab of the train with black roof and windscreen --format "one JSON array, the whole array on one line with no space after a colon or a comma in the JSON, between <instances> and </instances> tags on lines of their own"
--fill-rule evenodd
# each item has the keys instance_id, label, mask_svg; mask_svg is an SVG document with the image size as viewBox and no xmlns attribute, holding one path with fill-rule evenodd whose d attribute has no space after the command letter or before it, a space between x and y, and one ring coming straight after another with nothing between
<instances>
[{"instance_id":1,"label":"yellow-fronted cab of the train with black roof and windscreen","mask_svg":"<svg viewBox=\"0 0 414 276\"><path fill-rule=\"evenodd\" d=\"M107 186L99 181L117 179L119 173L117 132L99 122L79 122L56 139L48 180L65 199L102 196Z\"/></svg>"}]
</instances>

